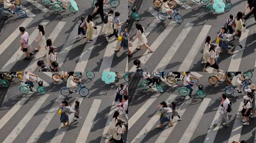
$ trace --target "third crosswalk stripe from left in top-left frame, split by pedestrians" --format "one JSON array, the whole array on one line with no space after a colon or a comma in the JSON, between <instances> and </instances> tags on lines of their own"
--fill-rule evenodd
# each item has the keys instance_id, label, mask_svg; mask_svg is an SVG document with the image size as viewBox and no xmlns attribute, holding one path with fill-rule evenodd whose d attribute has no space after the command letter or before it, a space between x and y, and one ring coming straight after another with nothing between
<instances>
[{"instance_id":1,"label":"third crosswalk stripe from left in top-left frame, split by pedestrians","mask_svg":"<svg viewBox=\"0 0 256 143\"><path fill-rule=\"evenodd\" d=\"M52 42L55 41L57 36L60 34L61 30L63 29L66 22L58 22L58 24L55 26L51 34L46 39L52 39ZM36 55L33 57L33 60L31 63L27 66L27 68L24 71L34 71L37 67L37 61L42 60L42 58L45 56L46 50L42 48L39 52L36 53ZM51 65L49 65L51 66Z\"/></svg>"}]
</instances>

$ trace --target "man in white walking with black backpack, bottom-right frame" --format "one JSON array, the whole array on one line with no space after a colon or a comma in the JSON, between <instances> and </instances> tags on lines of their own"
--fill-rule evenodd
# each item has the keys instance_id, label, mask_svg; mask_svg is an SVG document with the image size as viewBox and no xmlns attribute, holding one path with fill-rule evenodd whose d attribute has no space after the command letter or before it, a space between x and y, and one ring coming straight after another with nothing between
<instances>
[{"instance_id":1,"label":"man in white walking with black backpack, bottom-right frame","mask_svg":"<svg viewBox=\"0 0 256 143\"><path fill-rule=\"evenodd\" d=\"M213 127L216 127L222 121L222 118L226 120L226 123L223 123L223 126L229 127L229 119L228 119L228 111L231 112L230 101L227 98L225 93L222 94L222 101L220 102L220 115L217 120L215 120L212 124Z\"/></svg>"}]
</instances>

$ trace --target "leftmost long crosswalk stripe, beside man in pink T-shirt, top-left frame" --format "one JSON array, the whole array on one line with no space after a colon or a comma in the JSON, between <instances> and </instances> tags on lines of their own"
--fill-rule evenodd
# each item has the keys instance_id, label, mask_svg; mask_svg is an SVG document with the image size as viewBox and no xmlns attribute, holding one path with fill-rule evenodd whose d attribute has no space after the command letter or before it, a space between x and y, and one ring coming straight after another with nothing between
<instances>
[{"instance_id":1,"label":"leftmost long crosswalk stripe, beside man in pink T-shirt, top-left frame","mask_svg":"<svg viewBox=\"0 0 256 143\"><path fill-rule=\"evenodd\" d=\"M28 24L33 20L33 18L26 18L21 25L19 25L20 27L27 27ZM10 34L10 36L4 40L4 42L0 45L0 55L4 52L4 50L17 38L17 36L20 34L21 32L19 31L19 28L16 28L15 31L12 32L12 34ZM9 71L9 70L6 70Z\"/></svg>"}]
</instances>

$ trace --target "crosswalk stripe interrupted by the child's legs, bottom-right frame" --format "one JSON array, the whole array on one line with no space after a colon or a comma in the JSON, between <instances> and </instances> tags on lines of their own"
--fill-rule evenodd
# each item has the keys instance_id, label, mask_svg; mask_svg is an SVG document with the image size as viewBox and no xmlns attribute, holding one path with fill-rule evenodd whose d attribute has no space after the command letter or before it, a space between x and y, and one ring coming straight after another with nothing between
<instances>
[{"instance_id":1,"label":"crosswalk stripe interrupted by the child's legs, bottom-right frame","mask_svg":"<svg viewBox=\"0 0 256 143\"><path fill-rule=\"evenodd\" d=\"M188 96L186 96L186 98L183 101L182 105L180 105L180 107L178 108L178 113L179 113L180 117L182 117L182 115L184 114L184 112L188 108L188 106L191 103L191 101L192 101L192 99L189 98ZM174 122L173 123L173 127L168 127L168 126L165 127L165 129L162 131L162 133L157 138L155 143L165 143L166 140L168 139L168 137L170 136L171 132L174 130L176 124L178 124L178 122Z\"/></svg>"}]
</instances>

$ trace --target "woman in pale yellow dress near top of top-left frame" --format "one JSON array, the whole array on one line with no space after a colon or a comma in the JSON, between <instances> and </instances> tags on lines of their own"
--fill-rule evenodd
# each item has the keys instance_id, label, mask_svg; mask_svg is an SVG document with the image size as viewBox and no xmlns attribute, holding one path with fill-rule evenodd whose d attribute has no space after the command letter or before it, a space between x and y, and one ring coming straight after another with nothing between
<instances>
[{"instance_id":1,"label":"woman in pale yellow dress near top of top-left frame","mask_svg":"<svg viewBox=\"0 0 256 143\"><path fill-rule=\"evenodd\" d=\"M106 34L112 34L114 32L113 29L113 15L114 11L110 10L109 13L107 13L107 23L103 25L103 29L102 29L102 35L106 35Z\"/></svg>"}]
</instances>

